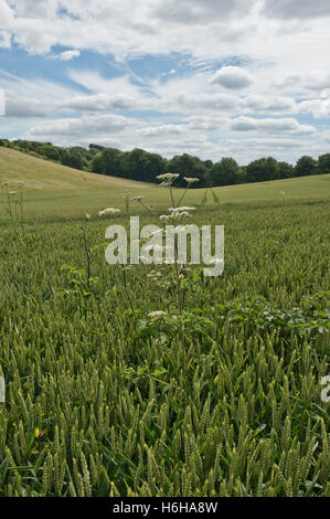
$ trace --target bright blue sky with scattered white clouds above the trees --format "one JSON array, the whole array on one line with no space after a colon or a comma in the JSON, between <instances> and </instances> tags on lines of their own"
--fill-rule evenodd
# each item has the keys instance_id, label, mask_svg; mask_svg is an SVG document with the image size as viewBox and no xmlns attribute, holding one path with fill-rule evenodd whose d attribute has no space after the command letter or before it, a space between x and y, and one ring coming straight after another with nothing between
<instances>
[{"instance_id":1,"label":"bright blue sky with scattered white clouds above the trees","mask_svg":"<svg viewBox=\"0 0 330 519\"><path fill-rule=\"evenodd\" d=\"M329 0L0 0L0 138L330 152Z\"/></svg>"}]
</instances>

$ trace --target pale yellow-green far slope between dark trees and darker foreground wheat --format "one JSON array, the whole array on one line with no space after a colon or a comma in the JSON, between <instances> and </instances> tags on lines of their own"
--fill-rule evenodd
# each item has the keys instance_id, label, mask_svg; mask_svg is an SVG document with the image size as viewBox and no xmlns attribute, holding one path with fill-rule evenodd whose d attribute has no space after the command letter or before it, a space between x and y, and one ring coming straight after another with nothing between
<instances>
[{"instance_id":1,"label":"pale yellow-green far slope between dark trees and darker foreground wheat","mask_svg":"<svg viewBox=\"0 0 330 519\"><path fill-rule=\"evenodd\" d=\"M158 186L115 177L78 171L57 163L38 159L19 151L0 148L0 220L6 219L7 198L3 182L15 190L18 181L24 181L24 203L28 219L79 218L96 213L106 206L125 208L125 191L131 197L142 194L147 205L156 210L168 208L167 191ZM182 190L177 190L178 198ZM242 186L215 188L220 204L257 204L302 202L330 199L330 174L276 180ZM285 193L283 195L283 193ZM189 201L200 205L205 190L193 190ZM214 203L207 192L206 206ZM134 211L137 205L130 206Z\"/></svg>"}]
</instances>

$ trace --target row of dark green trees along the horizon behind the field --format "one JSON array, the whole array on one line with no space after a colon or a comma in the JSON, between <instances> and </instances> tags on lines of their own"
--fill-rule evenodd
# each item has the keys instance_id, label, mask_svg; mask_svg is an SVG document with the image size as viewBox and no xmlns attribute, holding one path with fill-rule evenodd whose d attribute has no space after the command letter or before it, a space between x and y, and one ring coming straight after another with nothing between
<instances>
[{"instance_id":1,"label":"row of dark green trees along the horizon behind the field","mask_svg":"<svg viewBox=\"0 0 330 519\"><path fill-rule=\"evenodd\" d=\"M230 157L224 157L219 162L201 160L188 153L166 159L139 148L121 151L93 144L88 148L78 146L63 148L51 142L0 139L0 146L53 160L63 166L143 182L157 182L156 177L161 172L175 172L180 173L178 186L184 184L183 177L194 177L200 179L198 184L200 188L330 173L330 153L321 155L318 159L304 156L295 166L277 161L273 157L253 160L247 166L238 166L236 160Z\"/></svg>"}]
</instances>

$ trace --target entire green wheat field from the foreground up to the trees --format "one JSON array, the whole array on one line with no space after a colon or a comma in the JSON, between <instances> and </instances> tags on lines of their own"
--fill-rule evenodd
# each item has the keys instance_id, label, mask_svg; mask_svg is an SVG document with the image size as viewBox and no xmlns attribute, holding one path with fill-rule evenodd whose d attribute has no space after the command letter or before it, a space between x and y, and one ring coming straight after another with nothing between
<instances>
[{"instance_id":1,"label":"entire green wheat field from the foreground up to the trees","mask_svg":"<svg viewBox=\"0 0 330 519\"><path fill-rule=\"evenodd\" d=\"M167 188L7 149L0 184L0 496L330 496L330 174L188 191L225 269L181 311L172 266L104 258Z\"/></svg>"}]
</instances>

